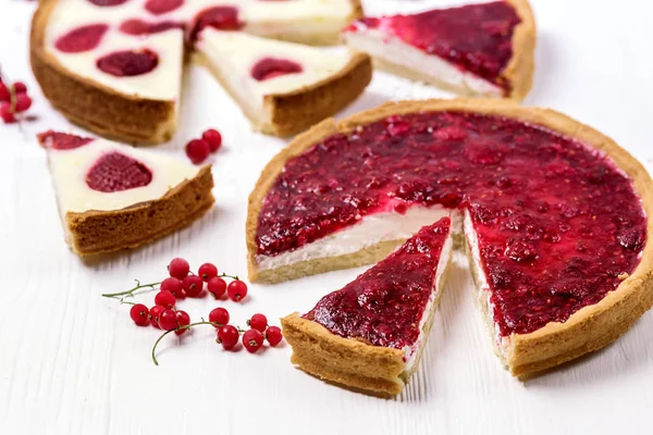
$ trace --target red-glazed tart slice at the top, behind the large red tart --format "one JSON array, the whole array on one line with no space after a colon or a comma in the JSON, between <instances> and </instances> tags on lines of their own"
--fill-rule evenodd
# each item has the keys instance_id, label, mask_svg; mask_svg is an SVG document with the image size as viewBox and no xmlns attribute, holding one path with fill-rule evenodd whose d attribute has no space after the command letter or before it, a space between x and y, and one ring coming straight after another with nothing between
<instances>
[{"instance_id":1,"label":"red-glazed tart slice at the top, behind the large red tart","mask_svg":"<svg viewBox=\"0 0 653 435\"><path fill-rule=\"evenodd\" d=\"M527 0L364 17L343 37L381 69L461 95L522 100L531 87L535 25Z\"/></svg>"}]
</instances>

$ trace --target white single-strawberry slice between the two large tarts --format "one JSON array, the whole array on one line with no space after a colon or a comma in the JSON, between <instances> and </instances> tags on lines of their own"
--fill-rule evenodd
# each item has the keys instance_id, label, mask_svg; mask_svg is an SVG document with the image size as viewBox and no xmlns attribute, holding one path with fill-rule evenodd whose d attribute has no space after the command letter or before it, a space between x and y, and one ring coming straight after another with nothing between
<instances>
[{"instance_id":1,"label":"white single-strawberry slice between the two large tarts","mask_svg":"<svg viewBox=\"0 0 653 435\"><path fill-rule=\"evenodd\" d=\"M238 101L256 129L301 132L349 104L371 79L367 54L204 29L201 62Z\"/></svg>"}]
</instances>

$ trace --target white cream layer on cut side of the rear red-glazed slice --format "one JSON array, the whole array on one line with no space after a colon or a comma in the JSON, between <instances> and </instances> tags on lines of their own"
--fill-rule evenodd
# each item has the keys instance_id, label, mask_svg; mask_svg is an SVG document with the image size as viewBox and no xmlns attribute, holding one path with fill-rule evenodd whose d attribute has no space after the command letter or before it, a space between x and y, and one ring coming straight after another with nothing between
<instances>
[{"instance_id":1,"label":"white cream layer on cut side of the rear red-glazed slice","mask_svg":"<svg viewBox=\"0 0 653 435\"><path fill-rule=\"evenodd\" d=\"M460 71L444 59L428 54L404 42L402 39L389 36L377 29L358 29L345 32L343 37L346 44L355 50L366 52L372 58L386 61L418 72L421 76L429 76L455 88L466 88L472 94L491 97L503 96L498 86L472 74Z\"/></svg>"}]
</instances>

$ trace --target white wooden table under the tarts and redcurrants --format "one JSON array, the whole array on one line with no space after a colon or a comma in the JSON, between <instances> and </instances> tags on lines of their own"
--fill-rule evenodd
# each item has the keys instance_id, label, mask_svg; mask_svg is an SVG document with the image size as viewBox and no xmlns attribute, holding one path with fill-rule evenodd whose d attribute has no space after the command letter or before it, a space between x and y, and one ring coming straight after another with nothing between
<instances>
[{"instance_id":1,"label":"white wooden table under the tarts and redcurrants","mask_svg":"<svg viewBox=\"0 0 653 435\"><path fill-rule=\"evenodd\" d=\"M366 2L370 12L444 1ZM451 3L451 1L449 1ZM533 0L537 75L526 103L550 107L614 137L653 167L653 7L641 0ZM131 253L84 263L65 247L45 154L34 136L77 130L45 101L29 66L34 2L0 5L0 64L24 79L37 122L0 125L0 434L530 434L652 433L653 314L613 346L527 383L493 356L471 302L461 257L446 286L419 372L404 394L382 400L340 389L288 363L291 349L225 352L210 327L167 339L137 328L128 307L100 297L164 276L175 256L245 274L247 195L285 142L252 134L209 74L189 66L182 129L162 152L209 126L224 136L215 158L217 206L189 228ZM387 99L449 97L377 73L352 114ZM250 286L242 306L221 302L241 325L255 312L278 319L306 311L360 270L278 286ZM143 298L151 303L153 294ZM194 319L212 299L182 307Z\"/></svg>"}]
</instances>

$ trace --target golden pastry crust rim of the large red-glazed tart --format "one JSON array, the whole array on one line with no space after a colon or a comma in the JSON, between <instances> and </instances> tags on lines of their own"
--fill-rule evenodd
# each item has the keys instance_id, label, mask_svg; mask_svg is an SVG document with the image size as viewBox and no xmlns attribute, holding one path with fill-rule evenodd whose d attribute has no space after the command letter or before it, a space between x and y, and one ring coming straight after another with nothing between
<instances>
[{"instance_id":1,"label":"golden pastry crust rim of the large red-glazed tart","mask_svg":"<svg viewBox=\"0 0 653 435\"><path fill-rule=\"evenodd\" d=\"M246 237L250 279L259 281L261 275L261 272L257 270L255 257L257 251L256 231L262 200L289 159L303 153L313 144L332 134L349 133L359 125L366 125L393 114L429 111L465 111L507 116L542 125L592 146L607 154L621 171L628 174L642 199L646 216L649 216L648 240L641 261L633 273L625 277L614 291L608 293L599 303L577 311L564 323L551 322L529 334L513 334L504 337L502 343L497 344L500 357L514 375L528 376L597 350L624 334L642 313L653 306L653 220L650 217L653 215L653 182L644 167L611 138L562 113L547 109L523 108L509 100L494 99L390 102L340 122L323 121L299 135L270 161L249 197ZM329 262L330 259L320 259L320 261ZM300 275L311 274L326 266L320 263L305 264L300 268ZM275 281L275 278L288 278L288 275L292 274L286 272L283 277L279 277L274 276L274 271L267 271L263 276L267 278L266 281ZM489 314L485 313L485 315Z\"/></svg>"}]
</instances>

